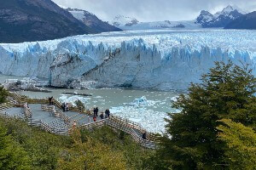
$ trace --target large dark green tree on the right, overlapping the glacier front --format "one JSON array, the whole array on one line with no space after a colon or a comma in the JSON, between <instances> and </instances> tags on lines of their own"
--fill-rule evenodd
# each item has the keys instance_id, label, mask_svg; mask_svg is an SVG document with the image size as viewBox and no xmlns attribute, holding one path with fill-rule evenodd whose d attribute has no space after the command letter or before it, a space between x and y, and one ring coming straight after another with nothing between
<instances>
[{"instance_id":1,"label":"large dark green tree on the right, overlapping the glacier front","mask_svg":"<svg viewBox=\"0 0 256 170\"><path fill-rule=\"evenodd\" d=\"M200 84L191 84L169 114L166 135L157 156L160 169L224 169L224 143L218 141L218 120L227 118L255 127L256 81L248 65L216 63Z\"/></svg>"}]
</instances>

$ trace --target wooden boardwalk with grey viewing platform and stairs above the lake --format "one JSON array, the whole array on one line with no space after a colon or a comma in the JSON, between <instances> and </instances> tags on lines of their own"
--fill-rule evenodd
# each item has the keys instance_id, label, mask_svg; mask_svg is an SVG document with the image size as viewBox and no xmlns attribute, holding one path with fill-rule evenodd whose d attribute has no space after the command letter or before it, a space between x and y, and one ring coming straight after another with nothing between
<instances>
[{"instance_id":1,"label":"wooden boardwalk with grey viewing platform and stairs above the lake","mask_svg":"<svg viewBox=\"0 0 256 170\"><path fill-rule=\"evenodd\" d=\"M90 111L79 111L77 107L71 107L70 111L62 112L61 104L54 99L54 105L48 105L48 99L29 99L25 96L12 93L9 102L0 105L0 116L5 118L16 117L26 121L29 125L40 127L49 133L68 135L72 133L74 122L80 128L93 129L107 125L131 134L138 144L148 149L156 148L156 137L148 133L135 122L123 119L119 116L109 116L107 119L97 117L93 122ZM143 133L146 139L143 139Z\"/></svg>"}]
</instances>

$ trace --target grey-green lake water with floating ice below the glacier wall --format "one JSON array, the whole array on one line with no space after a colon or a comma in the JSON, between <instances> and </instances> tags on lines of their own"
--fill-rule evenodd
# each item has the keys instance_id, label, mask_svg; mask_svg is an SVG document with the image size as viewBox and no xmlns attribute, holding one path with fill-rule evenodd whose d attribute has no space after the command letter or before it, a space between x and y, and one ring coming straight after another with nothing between
<instances>
[{"instance_id":1,"label":"grey-green lake water with floating ice below the glacier wall","mask_svg":"<svg viewBox=\"0 0 256 170\"><path fill-rule=\"evenodd\" d=\"M0 83L6 79L22 79L24 77L0 76ZM41 99L53 96L60 102L73 103L81 100L85 107L99 107L100 111L110 109L112 114L127 118L141 124L149 132L163 133L167 118L166 112L177 112L172 109L172 100L177 92L153 91L133 88L99 88L76 90L67 88L46 88L51 93L20 91L30 98ZM62 93L91 94L91 96L67 95Z\"/></svg>"}]
</instances>

